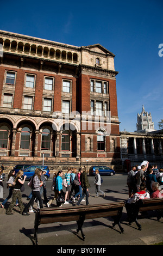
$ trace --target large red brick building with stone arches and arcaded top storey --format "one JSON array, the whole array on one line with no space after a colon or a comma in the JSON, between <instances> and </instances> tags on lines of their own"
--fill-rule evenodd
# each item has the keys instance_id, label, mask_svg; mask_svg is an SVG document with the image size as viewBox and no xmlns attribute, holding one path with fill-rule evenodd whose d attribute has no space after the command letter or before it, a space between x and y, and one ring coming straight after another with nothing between
<instances>
[{"instance_id":1,"label":"large red brick building with stone arches and arcaded top storey","mask_svg":"<svg viewBox=\"0 0 163 256\"><path fill-rule=\"evenodd\" d=\"M115 55L5 31L0 45L0 161L117 168Z\"/></svg>"}]
</instances>

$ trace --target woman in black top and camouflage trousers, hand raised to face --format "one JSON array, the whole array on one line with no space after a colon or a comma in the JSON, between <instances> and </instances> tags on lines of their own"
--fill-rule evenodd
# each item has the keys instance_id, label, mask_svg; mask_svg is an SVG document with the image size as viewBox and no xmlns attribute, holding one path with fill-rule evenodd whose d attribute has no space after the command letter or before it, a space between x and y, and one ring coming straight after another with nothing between
<instances>
[{"instance_id":1,"label":"woman in black top and camouflage trousers, hand raised to face","mask_svg":"<svg viewBox=\"0 0 163 256\"><path fill-rule=\"evenodd\" d=\"M18 199L18 206L20 208L20 214L22 214L24 205L22 201L22 193L21 193L21 187L24 184L27 176L23 176L24 172L23 170L19 170L16 179L15 179L15 187L14 190L12 191L12 202L10 203L10 206L8 210L6 211L6 214L11 215L12 214L12 209L14 208L14 205L16 204L16 200Z\"/></svg>"}]
</instances>

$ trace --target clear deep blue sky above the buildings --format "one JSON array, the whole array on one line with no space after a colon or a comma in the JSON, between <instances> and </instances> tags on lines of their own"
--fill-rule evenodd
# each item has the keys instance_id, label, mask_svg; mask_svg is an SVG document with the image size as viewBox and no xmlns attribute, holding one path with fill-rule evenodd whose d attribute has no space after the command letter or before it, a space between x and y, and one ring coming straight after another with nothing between
<instances>
[{"instance_id":1,"label":"clear deep blue sky above the buildings","mask_svg":"<svg viewBox=\"0 0 163 256\"><path fill-rule=\"evenodd\" d=\"M0 29L114 53L120 131L135 131L137 113L163 119L163 1L1 2ZM163 51L162 51L163 53Z\"/></svg>"}]
</instances>

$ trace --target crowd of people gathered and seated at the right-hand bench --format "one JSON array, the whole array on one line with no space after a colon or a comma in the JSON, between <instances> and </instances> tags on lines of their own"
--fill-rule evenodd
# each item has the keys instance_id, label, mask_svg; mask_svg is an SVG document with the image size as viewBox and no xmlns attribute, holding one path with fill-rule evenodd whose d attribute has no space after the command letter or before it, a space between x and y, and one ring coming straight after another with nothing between
<instances>
[{"instance_id":1,"label":"crowd of people gathered and seated at the right-hand bench","mask_svg":"<svg viewBox=\"0 0 163 256\"><path fill-rule=\"evenodd\" d=\"M149 166L149 162L143 161L140 166L133 166L127 176L128 204L135 203L139 199L159 197L163 198L163 169Z\"/></svg>"}]
</instances>

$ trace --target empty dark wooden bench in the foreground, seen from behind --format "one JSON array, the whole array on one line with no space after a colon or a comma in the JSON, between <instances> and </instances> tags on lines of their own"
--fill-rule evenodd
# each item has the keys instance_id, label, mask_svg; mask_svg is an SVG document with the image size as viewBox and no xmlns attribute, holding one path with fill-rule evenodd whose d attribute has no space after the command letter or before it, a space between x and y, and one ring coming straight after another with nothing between
<instances>
[{"instance_id":1,"label":"empty dark wooden bench in the foreground, seen from behind","mask_svg":"<svg viewBox=\"0 0 163 256\"><path fill-rule=\"evenodd\" d=\"M124 202L120 202L100 205L74 206L71 208L66 207L62 209L38 209L35 215L35 243L36 245L38 244L37 230L39 225L54 222L77 221L77 234L79 231L81 231L84 240L85 235L82 229L84 220L111 216L114 220L112 226L114 227L116 224L118 224L121 233L123 233L124 229L121 227L120 218L122 216L124 205Z\"/></svg>"}]
</instances>

